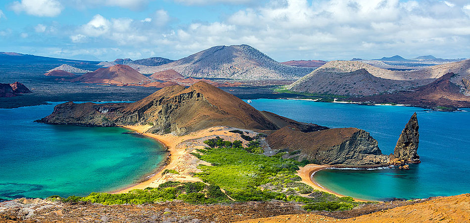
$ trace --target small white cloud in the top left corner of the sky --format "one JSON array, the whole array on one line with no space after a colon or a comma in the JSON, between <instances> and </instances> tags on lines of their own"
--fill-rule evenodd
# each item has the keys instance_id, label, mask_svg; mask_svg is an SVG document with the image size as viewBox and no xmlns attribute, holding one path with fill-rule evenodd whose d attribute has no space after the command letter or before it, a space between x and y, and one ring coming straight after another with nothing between
<instances>
[{"instance_id":1,"label":"small white cloud in the top left corner of the sky","mask_svg":"<svg viewBox=\"0 0 470 223\"><path fill-rule=\"evenodd\" d=\"M24 11L30 15L54 17L60 14L63 6L58 0L21 0L14 1L11 9L16 13Z\"/></svg>"}]
</instances>

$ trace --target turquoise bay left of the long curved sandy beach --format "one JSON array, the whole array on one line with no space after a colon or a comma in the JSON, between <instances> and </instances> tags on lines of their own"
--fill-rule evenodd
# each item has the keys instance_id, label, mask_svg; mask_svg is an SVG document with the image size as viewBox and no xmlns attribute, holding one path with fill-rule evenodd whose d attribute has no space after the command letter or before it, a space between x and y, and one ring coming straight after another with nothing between
<instances>
[{"instance_id":1,"label":"turquoise bay left of the long curved sandy beach","mask_svg":"<svg viewBox=\"0 0 470 223\"><path fill-rule=\"evenodd\" d=\"M53 108L0 109L0 199L121 189L149 175L166 155L157 141L124 128L33 122Z\"/></svg>"}]
</instances>

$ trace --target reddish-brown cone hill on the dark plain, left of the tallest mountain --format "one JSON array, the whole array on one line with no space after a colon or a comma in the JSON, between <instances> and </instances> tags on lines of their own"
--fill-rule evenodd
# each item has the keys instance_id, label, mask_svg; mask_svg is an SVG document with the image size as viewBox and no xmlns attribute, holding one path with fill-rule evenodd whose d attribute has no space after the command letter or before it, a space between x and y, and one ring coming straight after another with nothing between
<instances>
[{"instance_id":1,"label":"reddish-brown cone hill on the dark plain, left of the tallest mountain","mask_svg":"<svg viewBox=\"0 0 470 223\"><path fill-rule=\"evenodd\" d=\"M108 68L99 68L94 72L86 73L72 81L103 84L129 84L148 81L139 71L128 65L117 64Z\"/></svg>"}]
</instances>

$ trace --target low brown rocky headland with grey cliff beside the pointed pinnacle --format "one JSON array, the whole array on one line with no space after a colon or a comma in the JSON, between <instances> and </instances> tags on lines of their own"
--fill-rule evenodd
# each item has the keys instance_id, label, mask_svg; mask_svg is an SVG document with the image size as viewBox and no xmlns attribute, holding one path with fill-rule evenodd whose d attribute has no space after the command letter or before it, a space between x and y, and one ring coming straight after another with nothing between
<instances>
[{"instance_id":1,"label":"low brown rocky headland with grey cliff beside the pointed pinnacle","mask_svg":"<svg viewBox=\"0 0 470 223\"><path fill-rule=\"evenodd\" d=\"M298 154L292 158L310 160L338 167L376 167L388 163L377 141L357 128L332 128L302 132L292 126L283 127L267 138L271 149Z\"/></svg>"}]
</instances>

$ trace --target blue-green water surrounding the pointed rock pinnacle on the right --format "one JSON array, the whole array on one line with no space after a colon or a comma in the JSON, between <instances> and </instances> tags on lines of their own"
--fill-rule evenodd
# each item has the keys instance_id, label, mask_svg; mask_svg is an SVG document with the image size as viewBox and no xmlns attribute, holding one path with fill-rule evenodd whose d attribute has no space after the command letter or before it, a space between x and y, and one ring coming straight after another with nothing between
<instances>
[{"instance_id":1,"label":"blue-green water surrounding the pointed rock pinnacle on the right","mask_svg":"<svg viewBox=\"0 0 470 223\"><path fill-rule=\"evenodd\" d=\"M357 127L371 133L383 154L393 153L413 112L418 114L421 164L410 170L322 170L321 185L369 200L427 198L470 192L470 112L426 111L399 106L361 106L299 100L252 100L258 110L328 127ZM464 109L465 110L465 109ZM469 109L470 111L470 109Z\"/></svg>"}]
</instances>

